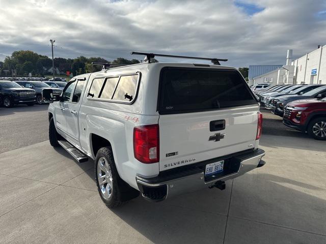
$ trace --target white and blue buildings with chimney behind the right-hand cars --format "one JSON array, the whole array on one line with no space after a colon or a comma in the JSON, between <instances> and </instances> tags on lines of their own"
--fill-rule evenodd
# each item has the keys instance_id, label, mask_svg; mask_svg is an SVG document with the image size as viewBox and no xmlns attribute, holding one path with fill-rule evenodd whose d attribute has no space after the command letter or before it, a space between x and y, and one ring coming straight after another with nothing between
<instances>
[{"instance_id":1,"label":"white and blue buildings with chimney behind the right-hand cars","mask_svg":"<svg viewBox=\"0 0 326 244\"><path fill-rule=\"evenodd\" d=\"M285 65L251 65L248 76L249 85L326 84L326 45L296 59L289 49Z\"/></svg>"}]
</instances>

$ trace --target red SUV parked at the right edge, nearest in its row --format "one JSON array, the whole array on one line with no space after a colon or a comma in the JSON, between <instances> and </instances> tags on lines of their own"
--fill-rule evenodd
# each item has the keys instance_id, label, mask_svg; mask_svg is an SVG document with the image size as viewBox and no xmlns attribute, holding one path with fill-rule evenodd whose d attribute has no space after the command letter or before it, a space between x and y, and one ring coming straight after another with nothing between
<instances>
[{"instance_id":1,"label":"red SUV parked at the right edge, nearest in its row","mask_svg":"<svg viewBox=\"0 0 326 244\"><path fill-rule=\"evenodd\" d=\"M308 132L317 140L326 140L326 98L288 103L284 108L283 124Z\"/></svg>"}]
</instances>

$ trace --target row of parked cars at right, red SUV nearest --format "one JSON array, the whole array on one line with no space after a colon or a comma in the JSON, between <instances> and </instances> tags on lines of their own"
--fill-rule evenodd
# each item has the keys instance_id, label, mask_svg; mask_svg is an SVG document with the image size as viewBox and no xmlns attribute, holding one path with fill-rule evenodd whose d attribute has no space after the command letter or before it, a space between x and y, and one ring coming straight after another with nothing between
<instances>
[{"instance_id":1,"label":"row of parked cars at right, red SUV nearest","mask_svg":"<svg viewBox=\"0 0 326 244\"><path fill-rule=\"evenodd\" d=\"M284 125L326 140L326 85L274 85L255 94Z\"/></svg>"}]
</instances>

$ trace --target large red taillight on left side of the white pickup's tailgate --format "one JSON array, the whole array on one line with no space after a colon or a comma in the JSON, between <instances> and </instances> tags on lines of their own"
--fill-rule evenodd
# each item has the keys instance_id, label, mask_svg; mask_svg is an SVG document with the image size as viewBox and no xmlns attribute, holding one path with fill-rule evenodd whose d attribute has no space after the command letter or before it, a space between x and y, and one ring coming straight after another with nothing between
<instances>
[{"instance_id":1,"label":"large red taillight on left side of the white pickup's tailgate","mask_svg":"<svg viewBox=\"0 0 326 244\"><path fill-rule=\"evenodd\" d=\"M158 125L133 128L133 154L135 159L145 164L159 161Z\"/></svg>"}]
</instances>

